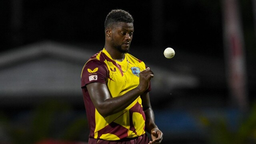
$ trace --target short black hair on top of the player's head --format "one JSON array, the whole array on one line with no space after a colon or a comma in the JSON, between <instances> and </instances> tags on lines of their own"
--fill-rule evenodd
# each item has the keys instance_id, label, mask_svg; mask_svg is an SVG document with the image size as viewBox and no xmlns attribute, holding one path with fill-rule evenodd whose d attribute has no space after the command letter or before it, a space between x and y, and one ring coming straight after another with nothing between
<instances>
[{"instance_id":1,"label":"short black hair on top of the player's head","mask_svg":"<svg viewBox=\"0 0 256 144\"><path fill-rule=\"evenodd\" d=\"M105 20L105 29L118 22L133 23L132 15L125 10L111 10Z\"/></svg>"}]
</instances>

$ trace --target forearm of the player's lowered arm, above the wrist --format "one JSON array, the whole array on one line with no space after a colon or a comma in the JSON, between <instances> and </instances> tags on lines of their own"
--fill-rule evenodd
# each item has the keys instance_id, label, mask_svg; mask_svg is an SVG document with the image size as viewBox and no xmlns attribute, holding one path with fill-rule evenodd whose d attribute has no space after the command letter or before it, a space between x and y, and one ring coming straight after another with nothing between
<instances>
[{"instance_id":1,"label":"forearm of the player's lowered arm, above the wrist","mask_svg":"<svg viewBox=\"0 0 256 144\"><path fill-rule=\"evenodd\" d=\"M146 116L146 129L148 132L151 133L151 130L153 128L158 128L155 124L155 117L154 117L154 112L151 107L148 107L146 110L144 110L145 116Z\"/></svg>"}]
</instances>

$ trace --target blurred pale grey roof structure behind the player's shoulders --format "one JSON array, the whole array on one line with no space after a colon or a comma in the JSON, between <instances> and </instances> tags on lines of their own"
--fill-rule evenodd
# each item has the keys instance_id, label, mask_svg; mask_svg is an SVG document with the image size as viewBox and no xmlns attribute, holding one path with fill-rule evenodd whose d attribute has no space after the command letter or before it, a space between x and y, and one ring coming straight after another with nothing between
<instances>
[{"instance_id":1,"label":"blurred pale grey roof structure behind the player's shoulders","mask_svg":"<svg viewBox=\"0 0 256 144\"><path fill-rule=\"evenodd\" d=\"M31 99L62 97L82 99L80 74L85 62L102 47L86 48L42 41L0 54L0 104L31 103ZM152 94L168 94L176 88L197 86L194 76L151 66ZM26 97L26 99L23 99ZM30 99L30 100L29 100Z\"/></svg>"}]
</instances>

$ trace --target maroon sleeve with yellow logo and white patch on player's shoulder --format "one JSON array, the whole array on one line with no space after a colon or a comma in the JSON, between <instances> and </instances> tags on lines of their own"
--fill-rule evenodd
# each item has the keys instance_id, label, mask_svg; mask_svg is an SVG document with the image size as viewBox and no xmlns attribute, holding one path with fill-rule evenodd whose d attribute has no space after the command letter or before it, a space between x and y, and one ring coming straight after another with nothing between
<instances>
[{"instance_id":1,"label":"maroon sleeve with yellow logo and white patch on player's shoulder","mask_svg":"<svg viewBox=\"0 0 256 144\"><path fill-rule=\"evenodd\" d=\"M106 84L108 78L108 69L106 65L99 60L93 59L88 61L81 75L81 88L91 82L100 82Z\"/></svg>"}]
</instances>

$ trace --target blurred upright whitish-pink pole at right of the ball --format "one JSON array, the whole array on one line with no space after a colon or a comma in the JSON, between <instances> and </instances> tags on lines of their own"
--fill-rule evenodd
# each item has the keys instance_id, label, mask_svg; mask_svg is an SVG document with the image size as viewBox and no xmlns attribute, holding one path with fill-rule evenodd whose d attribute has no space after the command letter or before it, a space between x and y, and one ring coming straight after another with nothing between
<instances>
[{"instance_id":1,"label":"blurred upright whitish-pink pole at right of the ball","mask_svg":"<svg viewBox=\"0 0 256 144\"><path fill-rule=\"evenodd\" d=\"M244 37L237 0L222 0L223 38L226 57L226 77L232 104L248 109Z\"/></svg>"}]
</instances>

